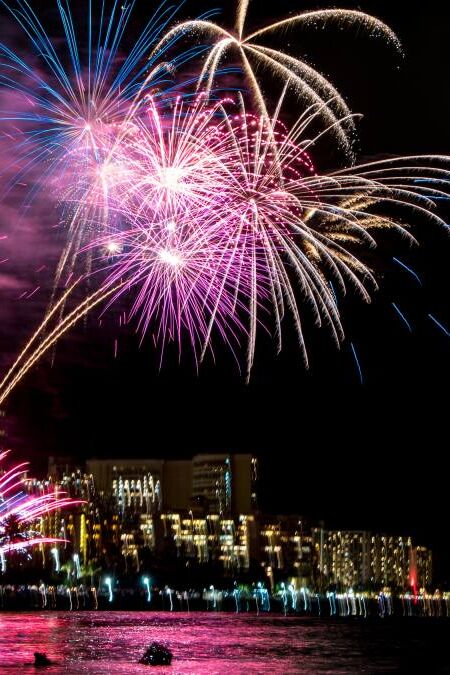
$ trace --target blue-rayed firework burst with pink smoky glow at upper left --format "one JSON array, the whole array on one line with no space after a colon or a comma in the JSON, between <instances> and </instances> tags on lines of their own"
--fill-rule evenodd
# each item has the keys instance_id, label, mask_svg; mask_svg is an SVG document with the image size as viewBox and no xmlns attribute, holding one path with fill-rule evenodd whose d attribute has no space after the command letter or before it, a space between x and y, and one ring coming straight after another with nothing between
<instances>
[{"instance_id":1,"label":"blue-rayed firework burst with pink smoky glow at upper left","mask_svg":"<svg viewBox=\"0 0 450 675\"><path fill-rule=\"evenodd\" d=\"M91 0L83 4L86 12L77 20L75 5L72 9L69 2L55 3L59 22L52 16L51 26L54 31L59 23L61 40L47 33L44 20L25 0L0 2L32 49L31 55L22 56L0 42L0 194L5 198L20 185L28 188L23 208L42 194L46 203L51 195L60 205L59 220L68 235L57 281L63 271L72 271L74 256L89 240L88 223L94 215L87 195L98 176L105 190L95 217L105 217L108 194L102 167L128 117L138 115L150 91L167 103L177 68L201 51L179 51L170 61L165 60L164 48L150 56L177 12L166 2L144 23L131 49L126 47L126 31L136 0L103 1L97 12ZM167 46L173 44L171 40ZM10 156L12 161L7 161Z\"/></svg>"}]
</instances>

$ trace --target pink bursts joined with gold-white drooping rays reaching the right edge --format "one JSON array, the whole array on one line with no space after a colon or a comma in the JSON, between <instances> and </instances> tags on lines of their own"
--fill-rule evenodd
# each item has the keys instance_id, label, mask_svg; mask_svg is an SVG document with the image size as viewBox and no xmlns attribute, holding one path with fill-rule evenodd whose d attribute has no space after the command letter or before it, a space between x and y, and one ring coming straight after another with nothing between
<instances>
[{"instance_id":1,"label":"pink bursts joined with gold-white drooping rays reaching the right edge","mask_svg":"<svg viewBox=\"0 0 450 675\"><path fill-rule=\"evenodd\" d=\"M376 229L396 229L413 239L397 208L425 213L439 224L433 196L449 185L445 158L398 158L329 175L316 172L308 137L311 116L288 131L236 105L176 106L161 119L149 104L148 120L117 147L128 187L119 182L113 224L96 246L115 242L104 257L105 288L122 284L110 302L133 295L130 316L143 333L164 344L187 337L196 360L212 348L212 334L238 348L247 340L247 375L259 325L281 349L283 319L290 314L305 363L301 307L325 323L336 343L344 337L334 287L355 288L366 301L377 287L361 260L375 246ZM414 163L415 162L415 163ZM428 178L426 188L418 179ZM383 209L380 207L384 206ZM101 256L100 256L101 257Z\"/></svg>"}]
</instances>

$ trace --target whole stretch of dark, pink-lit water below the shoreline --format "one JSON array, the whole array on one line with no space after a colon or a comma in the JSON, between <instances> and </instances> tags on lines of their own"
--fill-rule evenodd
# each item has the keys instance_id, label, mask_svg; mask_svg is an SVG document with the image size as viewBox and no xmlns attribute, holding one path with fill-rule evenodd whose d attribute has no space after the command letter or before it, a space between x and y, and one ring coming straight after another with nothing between
<instances>
[{"instance_id":1,"label":"whole stretch of dark, pink-lit water below the shoreline","mask_svg":"<svg viewBox=\"0 0 450 675\"><path fill-rule=\"evenodd\" d=\"M450 673L450 620L168 612L0 613L0 673L144 673L154 640L170 673Z\"/></svg>"}]
</instances>

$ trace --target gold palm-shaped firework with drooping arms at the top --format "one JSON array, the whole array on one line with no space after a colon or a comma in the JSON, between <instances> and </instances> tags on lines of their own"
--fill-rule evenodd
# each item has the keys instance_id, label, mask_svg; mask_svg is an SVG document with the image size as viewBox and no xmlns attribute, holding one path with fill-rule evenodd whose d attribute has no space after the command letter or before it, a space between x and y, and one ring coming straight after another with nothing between
<instances>
[{"instance_id":1,"label":"gold palm-shaped firework with drooping arms at the top","mask_svg":"<svg viewBox=\"0 0 450 675\"><path fill-rule=\"evenodd\" d=\"M268 71L280 82L288 80L302 106L305 104L320 106L323 121L333 125L339 143L344 150L350 152L351 136L355 132L355 127L341 94L327 78L305 61L279 49L271 49L260 44L260 38L280 35L288 29L311 29L335 23L339 27L358 29L362 27L369 34L380 36L400 50L396 35L379 19L363 12L344 9L303 12L246 34L249 4L250 0L236 0L235 24L232 29L223 28L203 18L185 21L168 30L158 42L156 49L165 48L171 40L185 34L201 34L212 38L213 44L198 78L199 87L203 88L206 80L206 91L210 92L220 64L227 56L230 58L237 56L259 114L269 117L266 99L258 79L258 71L262 70Z\"/></svg>"}]
</instances>

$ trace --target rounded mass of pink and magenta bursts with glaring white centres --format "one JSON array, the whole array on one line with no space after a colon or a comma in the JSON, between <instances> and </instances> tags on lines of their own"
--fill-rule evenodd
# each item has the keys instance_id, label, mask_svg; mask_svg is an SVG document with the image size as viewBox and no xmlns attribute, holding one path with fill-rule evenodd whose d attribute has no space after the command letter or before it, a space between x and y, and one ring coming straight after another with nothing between
<instances>
[{"instance_id":1,"label":"rounded mass of pink and magenta bursts with glaring white centres","mask_svg":"<svg viewBox=\"0 0 450 675\"><path fill-rule=\"evenodd\" d=\"M121 284L111 302L132 290L142 333L181 351L187 332L197 360L213 332L233 349L245 336L250 364L258 311L275 300L280 320L280 249L303 213L293 188L314 173L311 159L281 123L230 100L178 101L167 114L150 99L143 119L108 158L109 229L96 244L106 287Z\"/></svg>"}]
</instances>

